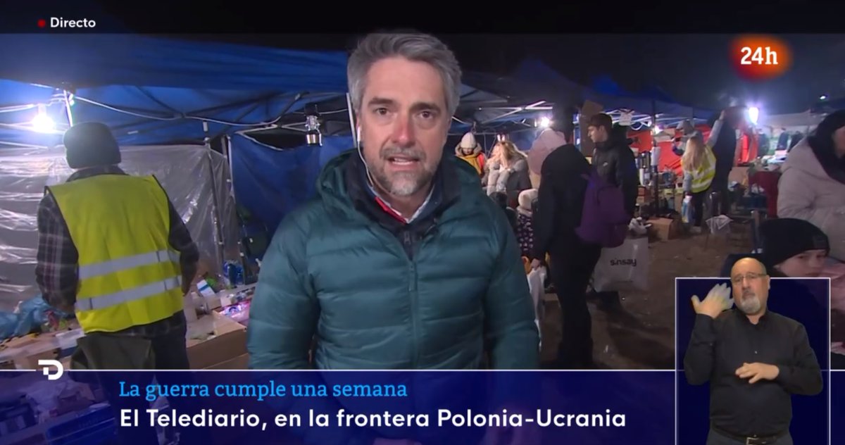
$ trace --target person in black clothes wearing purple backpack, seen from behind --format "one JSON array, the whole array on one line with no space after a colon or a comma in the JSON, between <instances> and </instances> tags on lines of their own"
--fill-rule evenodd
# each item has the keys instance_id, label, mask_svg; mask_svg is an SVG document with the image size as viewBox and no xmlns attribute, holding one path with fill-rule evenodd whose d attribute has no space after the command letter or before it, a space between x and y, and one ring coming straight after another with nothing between
<instances>
[{"instance_id":1,"label":"person in black clothes wearing purple backpack, seen from behind","mask_svg":"<svg viewBox=\"0 0 845 445\"><path fill-rule=\"evenodd\" d=\"M550 140L551 136L556 136L562 145L542 162L537 209L532 219L532 268L539 267L548 253L549 276L558 295L563 323L555 367L590 369L596 366L592 358L592 321L586 304L586 287L602 247L586 244L575 234L575 227L581 224L586 191L586 179L582 175L590 174L590 163L581 150L570 144L571 125L564 126L562 132L541 135L538 142Z\"/></svg>"}]
</instances>

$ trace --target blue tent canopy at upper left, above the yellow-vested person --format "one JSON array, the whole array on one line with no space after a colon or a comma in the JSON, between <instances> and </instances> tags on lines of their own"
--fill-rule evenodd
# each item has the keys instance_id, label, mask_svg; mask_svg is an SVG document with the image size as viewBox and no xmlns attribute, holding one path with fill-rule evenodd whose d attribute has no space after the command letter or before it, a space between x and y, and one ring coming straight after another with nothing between
<instances>
[{"instance_id":1,"label":"blue tent canopy at upper left, above the yellow-vested person","mask_svg":"<svg viewBox=\"0 0 845 445\"><path fill-rule=\"evenodd\" d=\"M202 141L346 93L346 54L138 35L3 35L0 146L60 144L104 122L121 144ZM66 106L70 104L70 106ZM36 132L39 113L54 122Z\"/></svg>"}]
</instances>

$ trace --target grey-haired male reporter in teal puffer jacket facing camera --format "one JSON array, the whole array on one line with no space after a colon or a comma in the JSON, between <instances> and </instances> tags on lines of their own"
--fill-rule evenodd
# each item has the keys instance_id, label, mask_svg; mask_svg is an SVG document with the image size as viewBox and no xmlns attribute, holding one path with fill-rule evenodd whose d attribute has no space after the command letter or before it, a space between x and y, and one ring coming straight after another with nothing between
<instances>
[{"instance_id":1,"label":"grey-haired male reporter in teal puffer jacket facing camera","mask_svg":"<svg viewBox=\"0 0 845 445\"><path fill-rule=\"evenodd\" d=\"M317 198L276 231L250 311L250 367L478 369L486 357L536 369L515 235L477 171L443 156L460 100L454 54L429 35L368 35L347 77L362 148L330 160ZM359 432L349 440L368 439Z\"/></svg>"}]
</instances>

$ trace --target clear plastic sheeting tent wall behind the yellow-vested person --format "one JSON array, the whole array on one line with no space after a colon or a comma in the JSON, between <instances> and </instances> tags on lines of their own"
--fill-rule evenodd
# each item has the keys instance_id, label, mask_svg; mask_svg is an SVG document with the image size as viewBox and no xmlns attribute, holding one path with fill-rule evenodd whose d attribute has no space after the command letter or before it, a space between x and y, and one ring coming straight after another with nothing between
<instances>
[{"instance_id":1,"label":"clear plastic sheeting tent wall behind the yellow-vested person","mask_svg":"<svg viewBox=\"0 0 845 445\"><path fill-rule=\"evenodd\" d=\"M213 272L238 259L237 216L226 158L201 145L123 147L121 168L155 175ZM0 312L40 294L35 285L38 203L73 171L64 149L0 149Z\"/></svg>"}]
</instances>

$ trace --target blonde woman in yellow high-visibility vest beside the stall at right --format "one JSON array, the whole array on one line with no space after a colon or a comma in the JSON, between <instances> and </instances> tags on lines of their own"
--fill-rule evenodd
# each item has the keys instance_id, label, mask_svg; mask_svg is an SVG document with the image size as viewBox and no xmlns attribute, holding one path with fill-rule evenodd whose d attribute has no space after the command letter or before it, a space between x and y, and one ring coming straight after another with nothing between
<instances>
[{"instance_id":1,"label":"blonde woman in yellow high-visibility vest beside the stall at right","mask_svg":"<svg viewBox=\"0 0 845 445\"><path fill-rule=\"evenodd\" d=\"M716 175L716 156L701 135L687 140L684 155L681 156L681 168L684 170L684 193L692 198L690 204L693 206L694 221L691 231L701 233L704 198Z\"/></svg>"}]
</instances>

